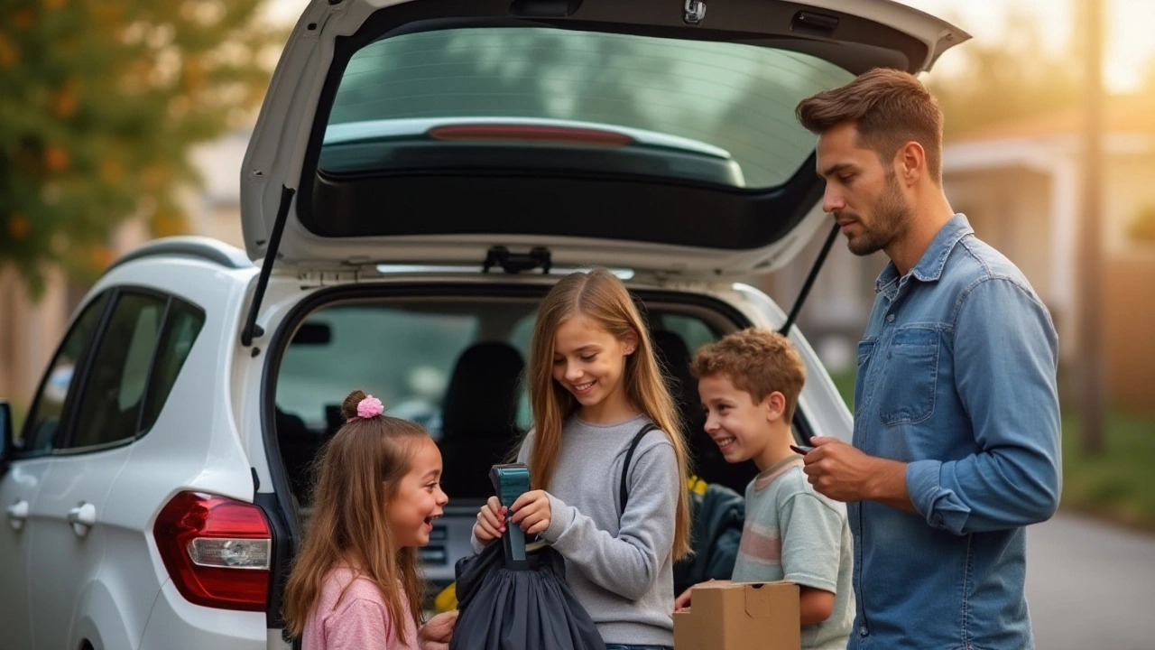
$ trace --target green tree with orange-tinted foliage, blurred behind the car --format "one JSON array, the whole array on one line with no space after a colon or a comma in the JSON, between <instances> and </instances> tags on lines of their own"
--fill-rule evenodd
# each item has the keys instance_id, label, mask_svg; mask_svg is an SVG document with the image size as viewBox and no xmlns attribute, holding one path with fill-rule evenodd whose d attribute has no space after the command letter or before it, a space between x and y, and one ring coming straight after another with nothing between
<instances>
[{"instance_id":1,"label":"green tree with orange-tinted foliage, blurred behind the car","mask_svg":"<svg viewBox=\"0 0 1155 650\"><path fill-rule=\"evenodd\" d=\"M92 280L128 216L184 231L189 147L252 119L283 43L260 1L0 2L0 267L36 295L50 264Z\"/></svg>"}]
</instances>

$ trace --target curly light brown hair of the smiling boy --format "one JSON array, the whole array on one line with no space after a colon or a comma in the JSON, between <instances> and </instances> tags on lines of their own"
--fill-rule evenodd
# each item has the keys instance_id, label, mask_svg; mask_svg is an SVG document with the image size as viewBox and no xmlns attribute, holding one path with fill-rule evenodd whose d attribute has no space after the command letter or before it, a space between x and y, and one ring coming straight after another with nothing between
<instances>
[{"instance_id":1,"label":"curly light brown hair of the smiling boy","mask_svg":"<svg viewBox=\"0 0 1155 650\"><path fill-rule=\"evenodd\" d=\"M806 365L802 355L782 334L750 327L702 346L690 370L695 377L723 375L736 389L750 393L754 404L777 391L785 398L787 420L793 419Z\"/></svg>"}]
</instances>

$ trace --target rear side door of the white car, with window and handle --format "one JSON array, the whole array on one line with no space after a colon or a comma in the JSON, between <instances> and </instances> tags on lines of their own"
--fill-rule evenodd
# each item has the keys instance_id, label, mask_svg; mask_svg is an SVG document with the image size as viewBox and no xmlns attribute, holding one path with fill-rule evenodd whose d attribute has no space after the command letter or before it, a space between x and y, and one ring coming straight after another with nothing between
<instances>
[{"instance_id":1,"label":"rear side door of the white car, with window and handle","mask_svg":"<svg viewBox=\"0 0 1155 650\"><path fill-rule=\"evenodd\" d=\"M102 623L96 604L114 603L98 575L107 554L107 495L132 453L166 297L113 289L90 353L69 389L51 463L31 505L29 608L37 648L75 648ZM116 615L113 608L111 614ZM110 647L132 642L104 634Z\"/></svg>"}]
</instances>

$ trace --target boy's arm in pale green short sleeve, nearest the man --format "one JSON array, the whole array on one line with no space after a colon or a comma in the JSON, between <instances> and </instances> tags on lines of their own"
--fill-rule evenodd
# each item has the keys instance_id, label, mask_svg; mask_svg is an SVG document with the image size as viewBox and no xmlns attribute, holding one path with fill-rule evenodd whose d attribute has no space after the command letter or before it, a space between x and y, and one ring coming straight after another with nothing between
<instances>
[{"instance_id":1,"label":"boy's arm in pale green short sleeve, nearest the man","mask_svg":"<svg viewBox=\"0 0 1155 650\"><path fill-rule=\"evenodd\" d=\"M783 577L798 584L804 626L834 613L844 520L844 510L810 490L795 493L778 507Z\"/></svg>"}]
</instances>

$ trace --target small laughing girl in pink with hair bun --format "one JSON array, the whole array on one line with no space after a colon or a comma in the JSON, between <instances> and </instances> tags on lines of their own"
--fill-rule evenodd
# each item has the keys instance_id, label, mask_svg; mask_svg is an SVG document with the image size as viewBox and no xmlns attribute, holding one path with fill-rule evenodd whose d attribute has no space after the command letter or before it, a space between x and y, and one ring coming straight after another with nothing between
<instances>
[{"instance_id":1,"label":"small laughing girl in pink with hair bun","mask_svg":"<svg viewBox=\"0 0 1155 650\"><path fill-rule=\"evenodd\" d=\"M289 575L284 618L305 650L445 648L455 612L419 627L417 547L449 501L441 452L418 424L353 391L326 445L313 518Z\"/></svg>"}]
</instances>

